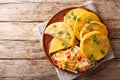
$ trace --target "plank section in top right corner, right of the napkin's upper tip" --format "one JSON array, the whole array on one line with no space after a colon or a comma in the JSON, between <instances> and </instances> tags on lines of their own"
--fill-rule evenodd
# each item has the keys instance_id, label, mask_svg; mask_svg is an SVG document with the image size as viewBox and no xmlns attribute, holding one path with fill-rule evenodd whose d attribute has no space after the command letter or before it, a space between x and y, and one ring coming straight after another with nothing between
<instances>
[{"instance_id":1,"label":"plank section in top right corner, right of the napkin's upper tip","mask_svg":"<svg viewBox=\"0 0 120 80\"><path fill-rule=\"evenodd\" d=\"M99 11L99 15L105 20L120 20L120 1L114 0L99 2L96 1L96 7ZM104 4L104 5L103 5Z\"/></svg>"}]
</instances>

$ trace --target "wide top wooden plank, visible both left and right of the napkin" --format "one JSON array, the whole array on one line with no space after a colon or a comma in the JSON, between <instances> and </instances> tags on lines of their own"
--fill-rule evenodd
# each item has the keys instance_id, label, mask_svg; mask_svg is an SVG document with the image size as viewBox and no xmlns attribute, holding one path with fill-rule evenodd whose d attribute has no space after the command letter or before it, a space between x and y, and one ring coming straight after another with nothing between
<instances>
[{"instance_id":1,"label":"wide top wooden plank, visible both left and right of the napkin","mask_svg":"<svg viewBox=\"0 0 120 80\"><path fill-rule=\"evenodd\" d=\"M0 21L45 21L50 19L55 13L67 7L80 6L82 0L77 3L14 3L14 4L0 4ZM99 2L97 8L99 14L104 20L118 20L119 5L114 1ZM103 5L105 4L105 5ZM112 6L111 6L112 5ZM30 7L29 7L30 6ZM56 7L57 6L57 7ZM107 6L107 7L106 7ZM110 17L111 16L111 17ZM114 17L112 17L114 16Z\"/></svg>"}]
</instances>

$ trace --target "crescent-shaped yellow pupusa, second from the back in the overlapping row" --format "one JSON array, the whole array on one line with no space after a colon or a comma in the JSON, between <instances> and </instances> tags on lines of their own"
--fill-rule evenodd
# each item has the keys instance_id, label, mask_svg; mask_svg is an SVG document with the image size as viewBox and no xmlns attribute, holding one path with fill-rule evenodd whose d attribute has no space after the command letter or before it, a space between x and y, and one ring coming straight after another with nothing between
<instances>
[{"instance_id":1,"label":"crescent-shaped yellow pupusa, second from the back in the overlapping row","mask_svg":"<svg viewBox=\"0 0 120 80\"><path fill-rule=\"evenodd\" d=\"M83 12L78 16L77 19L80 19L80 20L75 21L74 33L79 40L80 40L80 31L85 26L86 23L89 23L91 21L100 22L99 17L93 12Z\"/></svg>"}]
</instances>

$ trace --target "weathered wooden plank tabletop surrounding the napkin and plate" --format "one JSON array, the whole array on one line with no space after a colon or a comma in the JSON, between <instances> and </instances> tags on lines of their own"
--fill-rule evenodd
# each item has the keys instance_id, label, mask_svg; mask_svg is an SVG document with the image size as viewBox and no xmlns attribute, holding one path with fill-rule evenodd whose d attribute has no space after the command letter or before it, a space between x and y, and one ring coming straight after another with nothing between
<instances>
[{"instance_id":1,"label":"weathered wooden plank tabletop surrounding the napkin and plate","mask_svg":"<svg viewBox=\"0 0 120 80\"><path fill-rule=\"evenodd\" d=\"M0 0L0 80L58 80L32 29L87 0ZM120 80L120 0L94 0L115 59L78 80Z\"/></svg>"}]
</instances>

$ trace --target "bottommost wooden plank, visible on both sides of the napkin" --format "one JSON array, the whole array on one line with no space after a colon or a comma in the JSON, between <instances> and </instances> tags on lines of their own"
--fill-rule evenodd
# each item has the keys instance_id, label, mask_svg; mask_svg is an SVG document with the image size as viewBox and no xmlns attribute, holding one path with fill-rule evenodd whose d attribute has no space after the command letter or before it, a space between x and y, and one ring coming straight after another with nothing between
<instances>
[{"instance_id":1,"label":"bottommost wooden plank, visible on both sides of the napkin","mask_svg":"<svg viewBox=\"0 0 120 80\"><path fill-rule=\"evenodd\" d=\"M78 80L98 80L98 78L119 80L119 69L120 60L115 59L102 64L95 71L82 75ZM53 66L47 60L0 60L0 73L3 78L17 77L17 80L58 80Z\"/></svg>"}]
</instances>

